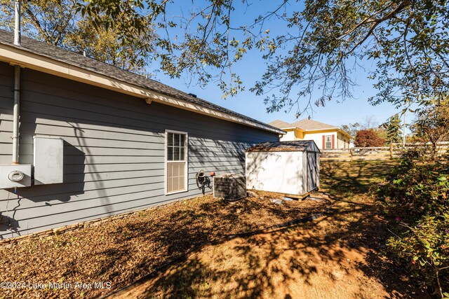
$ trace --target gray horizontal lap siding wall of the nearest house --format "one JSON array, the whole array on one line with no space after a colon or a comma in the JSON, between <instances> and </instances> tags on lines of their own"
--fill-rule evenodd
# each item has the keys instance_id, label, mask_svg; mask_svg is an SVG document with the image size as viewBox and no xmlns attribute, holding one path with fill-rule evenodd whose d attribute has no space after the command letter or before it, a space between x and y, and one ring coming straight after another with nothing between
<instances>
[{"instance_id":1,"label":"gray horizontal lap siding wall of the nearest house","mask_svg":"<svg viewBox=\"0 0 449 299\"><path fill-rule=\"evenodd\" d=\"M0 238L200 195L199 169L243 173L278 134L22 69L20 163L36 134L64 139L64 183L0 190ZM11 164L13 67L0 63L0 165ZM189 134L188 191L165 195L165 130Z\"/></svg>"}]
</instances>

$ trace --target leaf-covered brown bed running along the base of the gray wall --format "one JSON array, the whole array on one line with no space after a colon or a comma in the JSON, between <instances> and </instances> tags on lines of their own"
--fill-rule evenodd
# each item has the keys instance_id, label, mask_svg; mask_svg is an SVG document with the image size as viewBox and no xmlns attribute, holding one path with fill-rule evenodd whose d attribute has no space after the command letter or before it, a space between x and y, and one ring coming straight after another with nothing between
<instances>
[{"instance_id":1,"label":"leaf-covered brown bed running along the base of the gray wall","mask_svg":"<svg viewBox=\"0 0 449 299\"><path fill-rule=\"evenodd\" d=\"M207 195L95 227L3 246L0 281L23 281L26 286L4 288L0 298L95 298L131 284L209 239L266 228L326 207L326 202L311 201L278 205L265 193L263 199L248 197L234 203ZM48 288L49 282L61 288ZM94 285L99 282L105 288ZM34 289L28 283L47 287Z\"/></svg>"}]
</instances>

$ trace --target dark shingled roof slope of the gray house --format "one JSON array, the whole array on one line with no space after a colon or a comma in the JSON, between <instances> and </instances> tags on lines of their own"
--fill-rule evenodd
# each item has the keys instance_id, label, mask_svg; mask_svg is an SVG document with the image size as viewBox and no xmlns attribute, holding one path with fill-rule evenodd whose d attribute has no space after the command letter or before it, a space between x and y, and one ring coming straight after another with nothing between
<instances>
[{"instance_id":1,"label":"dark shingled roof slope of the gray house","mask_svg":"<svg viewBox=\"0 0 449 299\"><path fill-rule=\"evenodd\" d=\"M41 41L36 41L35 39L29 39L25 36L22 36L21 46L15 46L13 44L13 39L14 39L13 32L7 32L5 30L0 29L1 44L17 47L22 50L26 50L30 53L41 55L43 57L48 57L60 62L65 62L67 64L71 64L76 67L81 67L82 69L86 69L88 71L93 71L97 74L108 76L109 78L114 78L116 80L131 83L133 85L138 85L141 88L146 88L154 92L159 92L163 95L168 95L171 97L175 97L177 99L182 99L192 104L203 106L208 109L220 111L222 113L228 114L229 116L236 116L238 118L242 118L243 120L248 120L250 122L257 123L259 125L264 125L265 127L272 128L276 131L279 130L279 128L277 127L273 127L272 125L262 123L259 120L255 120L254 118L250 118L248 116L244 116L243 114L236 113L232 110L223 108L222 106L218 106L217 104L213 104L204 99L193 97L192 95L189 95L187 92L182 92L158 81L145 78L144 76L140 76L138 74L133 74L130 71L119 69L117 67L112 66L111 64L106 64L104 62L94 60L93 58L83 56L79 53L75 53L73 51L66 50L64 48L60 48L57 46L53 46L48 43L43 43Z\"/></svg>"}]
</instances>

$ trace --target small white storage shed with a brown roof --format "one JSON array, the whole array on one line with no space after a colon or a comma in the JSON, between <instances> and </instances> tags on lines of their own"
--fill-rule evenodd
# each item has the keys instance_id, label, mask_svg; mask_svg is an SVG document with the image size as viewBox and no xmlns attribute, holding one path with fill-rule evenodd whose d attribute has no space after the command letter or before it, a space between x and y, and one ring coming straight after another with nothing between
<instances>
[{"instance_id":1,"label":"small white storage shed with a brown roof","mask_svg":"<svg viewBox=\"0 0 449 299\"><path fill-rule=\"evenodd\" d=\"M304 197L319 187L319 157L313 140L256 144L246 150L246 188Z\"/></svg>"}]
</instances>

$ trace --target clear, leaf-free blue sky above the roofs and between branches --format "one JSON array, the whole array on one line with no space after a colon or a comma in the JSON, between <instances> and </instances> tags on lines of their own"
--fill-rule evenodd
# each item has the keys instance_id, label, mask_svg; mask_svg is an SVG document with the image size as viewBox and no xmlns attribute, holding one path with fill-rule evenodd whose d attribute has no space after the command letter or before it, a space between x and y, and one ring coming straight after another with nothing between
<instances>
[{"instance_id":1,"label":"clear, leaf-free blue sky above the roofs and between branches","mask_svg":"<svg viewBox=\"0 0 449 299\"><path fill-rule=\"evenodd\" d=\"M231 20L231 24L236 27L242 24L248 24L248 20L254 20L257 15L263 14L269 11L269 6L273 6L278 1L263 1L263 6L260 5L262 1L254 1L254 4L250 8L241 6L241 1L236 2L236 13L235 18ZM201 4L201 1L196 1L194 4ZM259 4L259 5L256 5ZM192 1L182 2L180 11L184 13L195 9L192 6ZM288 10L292 7L288 7ZM293 8L298 9L298 8ZM288 11L287 10L287 11ZM180 11L172 11L173 15L180 14ZM170 12L169 12L170 18ZM286 27L279 20L269 20L265 22L264 29L270 30L270 36L276 36L276 34L283 34L286 32ZM363 67L370 69L373 66L371 62L363 62ZM217 86L216 83L209 83L206 88L200 88L199 86L192 83L188 86L191 78L184 75L182 78L173 79L165 76L159 72L156 75L156 80L173 86L179 90L185 92L192 92L202 99L206 99L209 102L213 102L227 109L242 113L246 116L250 116L257 120L261 120L265 123L269 123L272 120L281 119L286 122L294 122L296 120L295 113L293 110L290 113L285 113L284 111L279 111L276 113L267 113L266 106L263 103L264 96L257 96L253 92L249 92L249 88L252 87L257 81L257 79L262 76L265 68L264 60L262 60L262 54L258 50L251 50L249 55L243 58L241 62L234 65L234 72L241 76L243 85L246 86L246 90L239 92L235 97L228 97L227 99L222 99L222 91ZM372 106L368 102L370 96L375 95L376 90L373 88L373 81L368 78L368 73L363 70L359 70L354 74L354 79L356 81L356 86L354 87L353 95L354 99L347 99L346 101L338 101L338 99L328 102L324 107L314 106L314 112L311 118L314 120L321 121L323 123L328 123L330 125L342 125L349 123L363 123L367 117L373 117L377 123L384 123L390 116L398 113L397 109L394 109L389 103L380 104L377 106ZM194 80L192 80L194 82ZM314 99L318 98L318 90L316 90L315 95L312 97L312 102ZM302 102L305 103L308 99L303 99ZM301 116L300 118L307 117L307 115ZM410 115L406 116L410 118Z\"/></svg>"}]
</instances>

